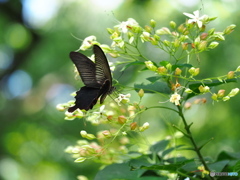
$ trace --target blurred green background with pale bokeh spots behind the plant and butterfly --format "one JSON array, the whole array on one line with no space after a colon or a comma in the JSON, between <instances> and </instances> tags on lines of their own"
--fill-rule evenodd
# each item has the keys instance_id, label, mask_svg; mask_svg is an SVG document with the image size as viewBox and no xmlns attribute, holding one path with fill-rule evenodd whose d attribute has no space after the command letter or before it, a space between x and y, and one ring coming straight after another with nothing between
<instances>
[{"instance_id":1,"label":"blurred green background with pale bokeh spots behind the plant and butterfly","mask_svg":"<svg viewBox=\"0 0 240 180\"><path fill-rule=\"evenodd\" d=\"M171 20L184 22L183 12L200 8L202 13L218 17L209 28L222 31L230 24L237 25L218 48L202 54L198 64L203 78L227 74L240 65L238 0L0 0L0 179L66 180L80 174L93 178L98 164L76 164L64 153L68 145L80 139L79 131L91 126L79 119L65 121L64 113L55 109L58 103L73 99L70 93L81 84L74 79L68 57L81 44L75 37L96 35L100 43L110 45L106 28L119 21L132 17L144 26L154 19L163 27ZM149 57L154 55L150 46L145 48ZM115 78L120 75L118 70ZM121 76L122 84L142 82L140 73L129 79L132 70ZM227 86L230 90L240 84ZM158 96L146 97L145 105L159 102ZM216 158L222 150L238 152L239 95L224 103L212 104L208 99L207 104L186 113L187 120L194 122L193 134L199 144L215 138L203 149L204 156ZM145 135L152 141L171 135L169 124L178 124L179 120L163 110L149 110L141 119L151 122Z\"/></svg>"}]
</instances>

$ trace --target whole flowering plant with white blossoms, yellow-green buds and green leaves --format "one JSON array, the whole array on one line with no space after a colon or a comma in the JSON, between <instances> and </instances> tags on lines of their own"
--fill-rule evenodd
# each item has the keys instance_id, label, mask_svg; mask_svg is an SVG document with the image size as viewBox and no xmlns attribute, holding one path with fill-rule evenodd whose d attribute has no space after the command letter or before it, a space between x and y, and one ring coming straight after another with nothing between
<instances>
[{"instance_id":1,"label":"whole flowering plant with white blossoms, yellow-green buds and green leaves","mask_svg":"<svg viewBox=\"0 0 240 180\"><path fill-rule=\"evenodd\" d=\"M225 102L238 94L239 88L233 88L229 92L216 89L219 85L236 82L240 66L218 77L197 78L201 71L200 67L194 65L195 61L202 61L200 53L216 48L225 40L225 36L234 30L235 25L218 32L214 28L207 28L216 17L199 16L199 11L184 15L190 19L180 25L170 21L169 27L162 28L157 28L155 20L150 20L149 25L141 27L136 20L129 18L107 29L112 40L111 46L100 44L95 36L87 37L80 46L80 50L86 50L93 44L98 44L113 58L122 57L124 61L114 64L124 65L122 71L132 66L140 66L142 71L154 73L154 76L146 77L148 84L134 85L139 96L138 102L131 102L130 94L119 94L115 99L118 104L96 106L87 112L79 109L73 113L66 111L66 120L85 118L101 128L96 135L81 130L80 134L86 140L79 140L76 145L66 149L67 153L73 155L75 162L91 159L105 166L95 179L214 179L212 175L209 176L210 172L240 172L239 153L222 152L215 161L202 155L201 149L211 139L203 145L197 145L191 131L193 123L187 122L184 115L193 106L190 98L210 94L213 102ZM168 58L162 59L158 56L150 59L141 51L142 44L151 46L154 51L164 52ZM170 102L173 106L145 107L142 103L146 97L144 93L159 94L166 98L166 101L161 103ZM194 102L205 103L206 98L199 98ZM72 105L73 102L70 101L58 105L57 109L65 111ZM152 108L163 108L178 114L184 129L175 124L173 127L190 143L175 144L177 135L171 139L160 140L150 147L137 143L143 139L141 133L151 125L147 120L139 124L135 119ZM183 150L194 151L197 157L189 159L184 155L176 155Z\"/></svg>"}]
</instances>

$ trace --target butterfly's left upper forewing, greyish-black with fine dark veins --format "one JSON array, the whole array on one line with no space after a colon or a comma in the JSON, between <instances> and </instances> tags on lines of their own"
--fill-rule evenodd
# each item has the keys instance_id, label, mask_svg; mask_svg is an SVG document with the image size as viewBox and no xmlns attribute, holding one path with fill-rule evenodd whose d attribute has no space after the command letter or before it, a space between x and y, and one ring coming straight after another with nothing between
<instances>
[{"instance_id":1,"label":"butterfly's left upper forewing, greyish-black with fine dark veins","mask_svg":"<svg viewBox=\"0 0 240 180\"><path fill-rule=\"evenodd\" d=\"M81 79L87 87L101 87L96 79L96 65L88 57L78 52L70 52L70 58L77 67Z\"/></svg>"}]
</instances>

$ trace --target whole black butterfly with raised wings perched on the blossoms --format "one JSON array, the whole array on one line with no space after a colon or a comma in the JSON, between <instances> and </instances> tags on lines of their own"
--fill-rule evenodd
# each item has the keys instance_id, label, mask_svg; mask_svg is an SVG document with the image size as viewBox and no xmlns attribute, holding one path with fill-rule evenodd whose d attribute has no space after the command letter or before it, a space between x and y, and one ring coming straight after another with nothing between
<instances>
[{"instance_id":1,"label":"whole black butterfly with raised wings perched on the blossoms","mask_svg":"<svg viewBox=\"0 0 240 180\"><path fill-rule=\"evenodd\" d=\"M108 94L111 94L114 87L112 86L112 76L108 65L107 58L98 45L93 46L95 54L95 63L88 57L78 52L70 52L70 58L77 67L83 83L85 84L75 96L75 105L68 109L73 112L77 108L92 109L100 98L100 104Z\"/></svg>"}]
</instances>

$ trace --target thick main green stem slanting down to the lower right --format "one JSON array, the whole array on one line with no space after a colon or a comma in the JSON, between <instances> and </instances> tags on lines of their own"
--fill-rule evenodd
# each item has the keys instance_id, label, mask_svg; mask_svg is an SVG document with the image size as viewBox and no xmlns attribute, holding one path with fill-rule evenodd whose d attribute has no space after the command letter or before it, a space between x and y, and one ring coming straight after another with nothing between
<instances>
[{"instance_id":1,"label":"thick main green stem slanting down to the lower right","mask_svg":"<svg viewBox=\"0 0 240 180\"><path fill-rule=\"evenodd\" d=\"M191 133L191 131L190 131L190 127L191 127L192 123L191 123L191 124L187 124L187 121L186 121L186 119L185 119L185 117L184 117L184 115L183 115L182 107L181 107L181 106L177 106L177 108L178 108L178 114L179 114L179 116L182 118L184 127L185 127L186 132L187 132L187 135L188 135L188 136L186 136L186 137L190 139L190 141L191 141L191 143L192 143L192 145L193 145L193 147L194 147L194 151L197 153L197 156L198 156L198 158L200 159L201 163L203 164L205 170L207 170L208 172L210 172L210 169L208 168L207 163L205 162L205 160L204 160L204 158L203 158L203 156L202 156L202 154L201 154L201 152L200 152L200 148L197 146L197 144L196 144L196 142L195 142L195 140L194 140L194 138L193 138L193 136L192 136L192 133ZM214 179L214 178L211 177L211 176L209 176L209 178L210 178L210 179Z\"/></svg>"}]
</instances>

